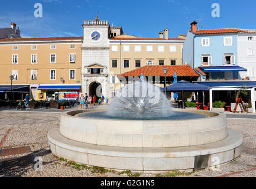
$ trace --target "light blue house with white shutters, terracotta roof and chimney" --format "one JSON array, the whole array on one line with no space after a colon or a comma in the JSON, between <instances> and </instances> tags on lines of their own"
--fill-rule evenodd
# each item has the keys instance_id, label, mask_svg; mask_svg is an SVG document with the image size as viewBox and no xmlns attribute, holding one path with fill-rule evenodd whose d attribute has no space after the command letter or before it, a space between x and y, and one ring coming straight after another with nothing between
<instances>
[{"instance_id":1,"label":"light blue house with white shutters, terracotta roof and chimney","mask_svg":"<svg viewBox=\"0 0 256 189\"><path fill-rule=\"evenodd\" d=\"M183 45L183 64L202 70L202 80L238 79L239 71L247 71L238 66L238 32L234 28L197 30L197 22L192 22Z\"/></svg>"}]
</instances>

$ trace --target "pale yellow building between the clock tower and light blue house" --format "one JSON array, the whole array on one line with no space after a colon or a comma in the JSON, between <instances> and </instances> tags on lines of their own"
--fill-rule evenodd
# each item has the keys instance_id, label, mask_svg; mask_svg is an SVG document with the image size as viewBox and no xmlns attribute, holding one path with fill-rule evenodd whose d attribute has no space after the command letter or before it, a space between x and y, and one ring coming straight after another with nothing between
<instances>
[{"instance_id":1,"label":"pale yellow building between the clock tower and light blue house","mask_svg":"<svg viewBox=\"0 0 256 189\"><path fill-rule=\"evenodd\" d=\"M186 35L168 38L168 29L159 38L119 35L109 40L111 97L119 90L118 75L143 66L182 65L182 48ZM120 51L121 50L121 51Z\"/></svg>"}]
</instances>

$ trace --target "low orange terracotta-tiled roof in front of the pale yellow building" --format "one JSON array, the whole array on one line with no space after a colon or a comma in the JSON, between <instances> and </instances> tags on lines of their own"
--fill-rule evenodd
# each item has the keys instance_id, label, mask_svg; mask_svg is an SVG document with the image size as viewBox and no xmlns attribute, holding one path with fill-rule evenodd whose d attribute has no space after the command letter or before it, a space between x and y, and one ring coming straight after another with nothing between
<instances>
[{"instance_id":1,"label":"low orange terracotta-tiled roof in front of the pale yellow building","mask_svg":"<svg viewBox=\"0 0 256 189\"><path fill-rule=\"evenodd\" d=\"M167 68L167 77L173 77L173 74L176 73L177 77L199 77L198 74L192 70L190 66L143 66L138 69L127 71L119 76L141 76L141 73L144 76L160 76L164 77L163 69Z\"/></svg>"}]
</instances>

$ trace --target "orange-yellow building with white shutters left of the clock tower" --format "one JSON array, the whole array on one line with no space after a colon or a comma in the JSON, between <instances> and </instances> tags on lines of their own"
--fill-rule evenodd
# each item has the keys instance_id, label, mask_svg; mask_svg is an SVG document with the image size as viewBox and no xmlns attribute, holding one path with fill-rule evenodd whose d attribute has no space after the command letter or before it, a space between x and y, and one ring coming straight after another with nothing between
<instances>
[{"instance_id":1,"label":"orange-yellow building with white shutters left of the clock tower","mask_svg":"<svg viewBox=\"0 0 256 189\"><path fill-rule=\"evenodd\" d=\"M12 75L14 87L15 85L29 85L30 98L35 100L43 100L47 97L51 99L54 92L59 91L79 92L82 38L7 38L0 40L0 84L11 84L9 76ZM51 86L52 90L38 90L42 86ZM59 86L66 86L68 89L62 90ZM76 89L73 90L74 88Z\"/></svg>"}]
</instances>

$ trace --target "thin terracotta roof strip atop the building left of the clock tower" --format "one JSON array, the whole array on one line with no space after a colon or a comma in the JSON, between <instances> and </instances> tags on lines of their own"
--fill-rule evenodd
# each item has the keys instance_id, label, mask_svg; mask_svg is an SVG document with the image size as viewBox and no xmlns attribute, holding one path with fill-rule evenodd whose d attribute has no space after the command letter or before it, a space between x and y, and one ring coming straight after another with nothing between
<instances>
[{"instance_id":1,"label":"thin terracotta roof strip atop the building left of the clock tower","mask_svg":"<svg viewBox=\"0 0 256 189\"><path fill-rule=\"evenodd\" d=\"M82 40L83 37L35 37L35 38L5 38L0 41L46 41L46 40Z\"/></svg>"}]
</instances>

